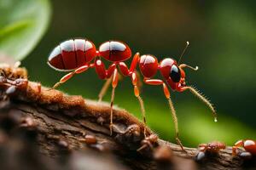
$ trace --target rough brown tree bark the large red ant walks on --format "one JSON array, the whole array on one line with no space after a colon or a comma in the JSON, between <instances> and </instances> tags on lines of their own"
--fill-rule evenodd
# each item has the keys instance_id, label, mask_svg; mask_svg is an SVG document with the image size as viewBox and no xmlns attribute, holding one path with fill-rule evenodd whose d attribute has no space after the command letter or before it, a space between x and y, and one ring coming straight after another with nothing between
<instances>
[{"instance_id":1,"label":"rough brown tree bark the large red ant walks on","mask_svg":"<svg viewBox=\"0 0 256 170\"><path fill-rule=\"evenodd\" d=\"M255 159L232 156L230 147L201 161L195 161L197 149L184 152L161 139L137 151L145 144L143 129L147 136L153 132L131 113L114 108L110 136L108 103L22 82L26 76L19 82L17 74L5 71L8 81L0 78L0 162L5 169L256 168Z\"/></svg>"}]
</instances>

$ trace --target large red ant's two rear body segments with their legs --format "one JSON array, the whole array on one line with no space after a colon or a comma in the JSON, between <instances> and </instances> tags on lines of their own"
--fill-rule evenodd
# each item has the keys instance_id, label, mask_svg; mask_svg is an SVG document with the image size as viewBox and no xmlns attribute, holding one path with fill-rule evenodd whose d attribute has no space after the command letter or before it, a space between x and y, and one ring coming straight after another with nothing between
<instances>
[{"instance_id":1,"label":"large red ant's two rear body segments with their legs","mask_svg":"<svg viewBox=\"0 0 256 170\"><path fill-rule=\"evenodd\" d=\"M101 57L113 62L109 65L108 70L106 70ZM71 71L67 73L61 80L55 83L53 88L57 88L62 83L67 82L68 79L76 74L87 71L89 68L96 69L96 74L101 79L108 79L99 94L99 100L102 99L108 88L108 82L112 79L112 96L110 103L110 135L112 135L113 129L113 99L114 91L118 85L118 66L119 70L125 77L131 77L131 82L134 87L134 94L137 97L141 111L143 115L143 123L146 124L145 109L143 105L143 99L140 96L140 91L137 86L138 76L136 65L133 64L137 62L138 54L134 55L130 69L125 65L125 60L131 58L131 49L125 42L120 41L108 41L103 42L99 49L96 50L96 46L93 42L87 39L71 39L65 42L61 42L60 45L55 47L53 51L49 54L48 64L57 71ZM91 61L95 59L94 63ZM144 136L146 136L146 128L144 128Z\"/></svg>"}]
</instances>

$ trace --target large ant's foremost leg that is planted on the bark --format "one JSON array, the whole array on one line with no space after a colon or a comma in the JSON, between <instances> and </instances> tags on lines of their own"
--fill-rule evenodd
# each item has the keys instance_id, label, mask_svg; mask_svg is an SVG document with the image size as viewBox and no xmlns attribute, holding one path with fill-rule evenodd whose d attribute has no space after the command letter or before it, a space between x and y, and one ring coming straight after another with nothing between
<instances>
[{"instance_id":1,"label":"large ant's foremost leg that is planted on the bark","mask_svg":"<svg viewBox=\"0 0 256 170\"><path fill-rule=\"evenodd\" d=\"M178 122L177 122L177 115L176 115L176 111L174 109L173 103L172 103L172 99L171 99L171 95L170 95L170 91L166 86L166 83L163 82L160 79L144 79L144 82L149 84L149 85L162 85L163 86L163 91L164 94L166 96L166 99L168 100L168 104L170 107L170 110L172 111L172 120L174 122L174 127L175 127L175 136L176 136L176 141L177 144L180 145L181 149L184 150L183 148L183 144L181 143L181 140L179 139L179 133L178 133Z\"/></svg>"}]
</instances>

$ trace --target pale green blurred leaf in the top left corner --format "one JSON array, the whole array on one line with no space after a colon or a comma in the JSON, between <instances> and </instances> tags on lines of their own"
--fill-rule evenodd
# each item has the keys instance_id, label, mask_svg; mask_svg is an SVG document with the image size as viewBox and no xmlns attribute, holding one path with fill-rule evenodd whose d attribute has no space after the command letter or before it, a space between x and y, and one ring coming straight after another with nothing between
<instances>
[{"instance_id":1,"label":"pale green blurred leaf in the top left corner","mask_svg":"<svg viewBox=\"0 0 256 170\"><path fill-rule=\"evenodd\" d=\"M48 0L0 0L0 54L24 59L49 24Z\"/></svg>"}]
</instances>

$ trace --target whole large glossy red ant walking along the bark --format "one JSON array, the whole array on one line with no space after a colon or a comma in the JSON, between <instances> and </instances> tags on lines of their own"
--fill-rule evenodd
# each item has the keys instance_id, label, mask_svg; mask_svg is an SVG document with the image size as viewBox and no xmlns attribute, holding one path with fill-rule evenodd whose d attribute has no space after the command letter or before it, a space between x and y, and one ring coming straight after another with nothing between
<instances>
[{"instance_id":1,"label":"whole large glossy red ant walking along the bark","mask_svg":"<svg viewBox=\"0 0 256 170\"><path fill-rule=\"evenodd\" d=\"M188 48L188 46L189 46L189 42L187 42L187 46L183 49L183 53L181 54L180 59L182 59L182 56L185 50ZM113 64L109 66L107 71L105 69L105 65L102 63L102 60L100 59L100 56L102 56L104 59L107 59L113 62ZM143 114L143 122L144 124L146 124L143 99L140 97L139 89L137 88L138 77L136 74L136 67L137 67L137 64L139 64L140 71L142 72L144 77L143 82L149 85L163 86L164 94L166 95L166 99L168 100L170 109L172 111L172 118L175 124L176 140L182 149L183 149L183 145L181 144L181 141L178 138L176 111L172 104L172 99L170 96L169 89L166 86L166 82L172 88L172 90L174 91L177 90L177 92L183 92L189 89L192 92L192 94L195 94L195 96L201 99L212 110L214 121L217 122L217 114L212 104L206 98L204 98L195 88L186 86L185 72L183 71L183 68L188 67L194 71L197 71L198 70L197 66L193 68L185 64L178 65L179 62L177 63L175 59L171 59L171 58L163 59L159 64L157 58L154 55L146 54L140 57L140 55L137 53L134 55L131 61L130 69L128 69L127 65L125 65L125 62L123 61L129 59L130 57L131 57L131 49L124 42L119 42L119 41L103 42L102 45L99 47L98 51L96 50L95 45L89 40L75 39L75 40L68 40L66 42L61 42L61 44L57 46L49 55L48 63L55 70L72 71L72 72L62 77L60 82L57 82L53 88L58 87L63 82L67 82L67 80L73 77L73 75L86 71L89 67L91 68L95 67L96 73L101 79L110 79L111 77L113 77L113 80L112 80L113 91L112 91L112 97L111 97L110 126L109 126L110 133L112 134L114 89L117 87L117 84L118 84L117 66L119 66L119 70L124 76L131 77L131 81L134 86L134 94L140 102L141 110ZM93 64L90 64L90 61L92 59L95 59L95 62ZM160 73L164 77L164 80L166 80L166 82L160 79L151 79L152 77L154 77L154 75L158 70L160 70ZM100 99L102 98L107 88L108 86L103 87L102 89L103 93L101 92L99 95ZM146 136L145 129L144 129L144 135Z\"/></svg>"}]
</instances>

